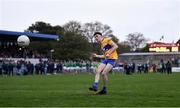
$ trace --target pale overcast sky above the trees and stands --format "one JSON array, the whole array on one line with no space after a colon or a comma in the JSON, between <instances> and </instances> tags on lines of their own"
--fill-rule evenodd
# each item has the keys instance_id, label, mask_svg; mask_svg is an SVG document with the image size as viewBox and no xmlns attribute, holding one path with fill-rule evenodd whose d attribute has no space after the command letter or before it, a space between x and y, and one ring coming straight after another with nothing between
<instances>
[{"instance_id":1,"label":"pale overcast sky above the trees and stands","mask_svg":"<svg viewBox=\"0 0 180 108\"><path fill-rule=\"evenodd\" d=\"M150 42L180 39L180 0L0 0L0 30L23 32L36 21L107 24L119 41L139 32Z\"/></svg>"}]
</instances>

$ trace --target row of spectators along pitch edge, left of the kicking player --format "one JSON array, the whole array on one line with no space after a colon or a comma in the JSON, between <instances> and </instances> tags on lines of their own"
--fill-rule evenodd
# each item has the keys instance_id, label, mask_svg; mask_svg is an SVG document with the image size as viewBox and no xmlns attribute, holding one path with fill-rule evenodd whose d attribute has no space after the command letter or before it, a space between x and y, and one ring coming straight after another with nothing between
<instances>
[{"instance_id":1,"label":"row of spectators along pitch edge, left of the kicking player","mask_svg":"<svg viewBox=\"0 0 180 108\"><path fill-rule=\"evenodd\" d=\"M43 61L0 60L0 75L49 75L60 73L94 73L96 62L90 61Z\"/></svg>"}]
</instances>

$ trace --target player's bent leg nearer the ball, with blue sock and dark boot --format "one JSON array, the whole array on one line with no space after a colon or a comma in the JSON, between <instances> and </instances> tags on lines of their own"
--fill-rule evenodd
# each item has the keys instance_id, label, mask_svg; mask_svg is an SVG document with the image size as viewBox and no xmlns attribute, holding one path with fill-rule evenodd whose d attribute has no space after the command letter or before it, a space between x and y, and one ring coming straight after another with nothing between
<instances>
[{"instance_id":1,"label":"player's bent leg nearer the ball, with blue sock and dark boot","mask_svg":"<svg viewBox=\"0 0 180 108\"><path fill-rule=\"evenodd\" d=\"M94 81L92 87L89 88L89 90L97 91L98 83L99 83L99 79L100 79L100 74L104 70L105 67L106 67L106 64L104 64L104 63L101 63L98 66L98 68L96 70L95 81Z\"/></svg>"}]
</instances>

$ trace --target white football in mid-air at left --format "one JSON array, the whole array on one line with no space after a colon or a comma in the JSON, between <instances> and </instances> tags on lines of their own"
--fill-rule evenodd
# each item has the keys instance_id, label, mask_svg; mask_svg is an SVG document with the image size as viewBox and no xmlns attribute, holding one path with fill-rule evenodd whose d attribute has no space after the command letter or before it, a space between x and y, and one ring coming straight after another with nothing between
<instances>
[{"instance_id":1,"label":"white football in mid-air at left","mask_svg":"<svg viewBox=\"0 0 180 108\"><path fill-rule=\"evenodd\" d=\"M21 35L17 38L17 43L19 46L28 46L30 43L30 39L26 35Z\"/></svg>"}]
</instances>

